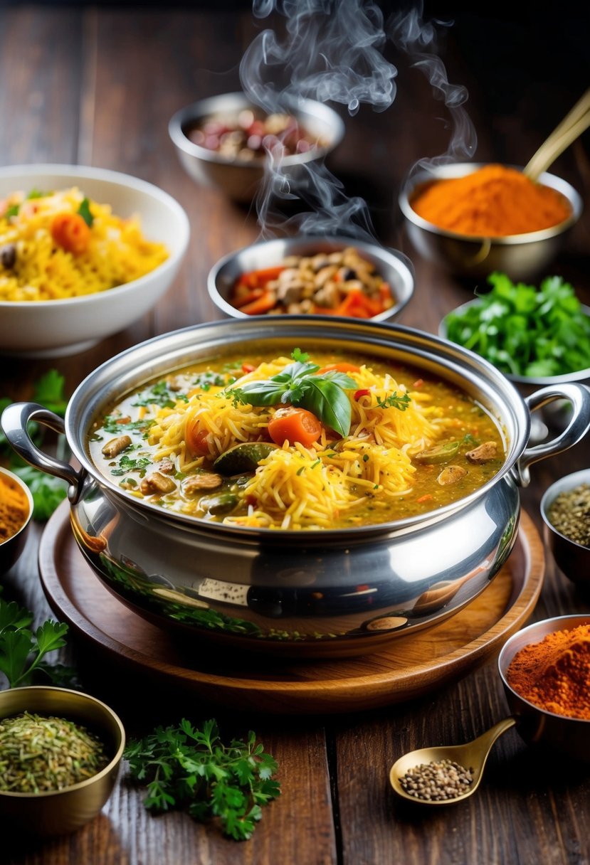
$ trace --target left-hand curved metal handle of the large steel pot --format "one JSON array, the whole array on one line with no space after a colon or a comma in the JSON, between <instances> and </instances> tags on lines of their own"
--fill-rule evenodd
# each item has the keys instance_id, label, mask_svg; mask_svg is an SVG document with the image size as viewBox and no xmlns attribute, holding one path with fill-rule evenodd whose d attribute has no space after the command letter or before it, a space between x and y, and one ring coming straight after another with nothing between
<instances>
[{"instance_id":1,"label":"left-hand curved metal handle of the large steel pot","mask_svg":"<svg viewBox=\"0 0 590 865\"><path fill-rule=\"evenodd\" d=\"M37 424L48 426L55 432L65 432L65 425L59 414L50 412L36 402L11 403L4 409L0 422L6 439L19 457L29 465L34 465L35 469L41 469L48 475L61 477L67 481L69 484L67 497L74 503L86 477L86 471L84 469L76 471L73 465L42 452L29 436L28 425L33 420Z\"/></svg>"}]
</instances>

